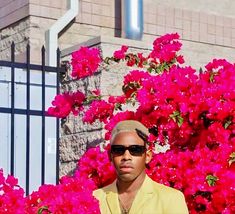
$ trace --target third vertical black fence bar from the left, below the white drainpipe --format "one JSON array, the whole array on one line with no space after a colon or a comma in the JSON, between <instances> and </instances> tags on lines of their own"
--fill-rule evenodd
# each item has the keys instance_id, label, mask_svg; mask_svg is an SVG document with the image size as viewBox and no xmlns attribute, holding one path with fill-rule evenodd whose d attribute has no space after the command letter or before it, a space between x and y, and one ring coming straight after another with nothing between
<instances>
[{"instance_id":1,"label":"third vertical black fence bar from the left, below the white drainpipe","mask_svg":"<svg viewBox=\"0 0 235 214\"><path fill-rule=\"evenodd\" d=\"M45 183L45 47L41 49L42 56L42 160L41 160L41 184Z\"/></svg>"}]
</instances>

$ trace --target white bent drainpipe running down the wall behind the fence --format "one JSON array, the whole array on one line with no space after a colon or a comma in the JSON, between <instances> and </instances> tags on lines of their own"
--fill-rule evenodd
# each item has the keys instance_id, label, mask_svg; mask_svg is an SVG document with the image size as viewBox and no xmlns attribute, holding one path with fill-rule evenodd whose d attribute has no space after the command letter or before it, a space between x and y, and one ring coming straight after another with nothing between
<instances>
[{"instance_id":1,"label":"white bent drainpipe running down the wall behind the fence","mask_svg":"<svg viewBox=\"0 0 235 214\"><path fill-rule=\"evenodd\" d=\"M56 66L56 50L58 48L58 34L63 30L78 14L79 0L69 0L68 11L58 19L45 33L46 64Z\"/></svg>"}]
</instances>

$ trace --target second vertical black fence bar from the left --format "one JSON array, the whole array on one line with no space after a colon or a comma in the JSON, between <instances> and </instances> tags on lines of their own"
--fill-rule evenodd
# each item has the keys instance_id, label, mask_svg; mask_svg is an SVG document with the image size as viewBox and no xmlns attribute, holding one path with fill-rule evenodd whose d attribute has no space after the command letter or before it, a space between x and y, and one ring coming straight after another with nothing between
<instances>
[{"instance_id":1,"label":"second vertical black fence bar from the left","mask_svg":"<svg viewBox=\"0 0 235 214\"><path fill-rule=\"evenodd\" d=\"M30 46L26 51L26 195L29 194L29 171L30 171Z\"/></svg>"}]
</instances>

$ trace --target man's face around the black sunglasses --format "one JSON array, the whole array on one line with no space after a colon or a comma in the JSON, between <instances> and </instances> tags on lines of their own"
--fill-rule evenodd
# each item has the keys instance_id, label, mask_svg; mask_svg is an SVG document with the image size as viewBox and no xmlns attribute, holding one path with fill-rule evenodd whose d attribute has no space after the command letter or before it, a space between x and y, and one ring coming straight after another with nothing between
<instances>
[{"instance_id":1,"label":"man's face around the black sunglasses","mask_svg":"<svg viewBox=\"0 0 235 214\"><path fill-rule=\"evenodd\" d=\"M144 146L145 144L136 132L121 132L115 137L112 145L129 147L131 145ZM111 153L110 157L116 169L118 178L125 182L133 181L141 173L144 173L145 164L151 159L146 152L141 155L131 155L129 150L126 150L123 155Z\"/></svg>"}]
</instances>

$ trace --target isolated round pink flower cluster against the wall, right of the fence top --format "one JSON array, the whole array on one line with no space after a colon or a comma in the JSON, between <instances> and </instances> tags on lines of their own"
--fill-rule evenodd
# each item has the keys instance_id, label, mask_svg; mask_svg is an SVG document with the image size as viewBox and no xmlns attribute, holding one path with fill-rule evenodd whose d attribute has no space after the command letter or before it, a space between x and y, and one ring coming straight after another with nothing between
<instances>
[{"instance_id":1,"label":"isolated round pink flower cluster against the wall, right of the fence top","mask_svg":"<svg viewBox=\"0 0 235 214\"><path fill-rule=\"evenodd\" d=\"M72 77L84 78L96 72L101 63L100 52L97 48L81 47L72 53Z\"/></svg>"}]
</instances>

